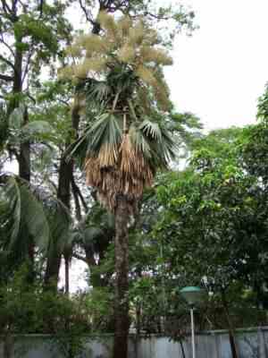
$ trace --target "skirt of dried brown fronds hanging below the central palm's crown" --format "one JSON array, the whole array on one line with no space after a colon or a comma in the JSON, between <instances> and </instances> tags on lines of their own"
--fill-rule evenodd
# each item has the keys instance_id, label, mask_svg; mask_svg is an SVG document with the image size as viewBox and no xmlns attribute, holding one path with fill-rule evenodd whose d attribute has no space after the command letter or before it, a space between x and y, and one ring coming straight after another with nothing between
<instances>
[{"instance_id":1,"label":"skirt of dried brown fronds hanging below the central palm's crown","mask_svg":"<svg viewBox=\"0 0 268 358\"><path fill-rule=\"evenodd\" d=\"M105 149L103 152L105 158L101 149L97 157L86 160L88 185L96 187L108 209L115 208L117 195L125 195L130 200L139 200L145 187L152 185L154 173L142 153L132 145L130 135L124 135L116 161L110 152Z\"/></svg>"}]
</instances>

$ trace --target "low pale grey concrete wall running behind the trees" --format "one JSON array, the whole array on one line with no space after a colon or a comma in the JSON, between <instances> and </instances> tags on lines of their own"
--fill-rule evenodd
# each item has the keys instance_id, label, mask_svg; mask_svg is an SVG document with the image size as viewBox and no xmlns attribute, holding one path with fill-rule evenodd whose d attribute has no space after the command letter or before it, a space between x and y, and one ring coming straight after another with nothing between
<instances>
[{"instance_id":1,"label":"low pale grey concrete wall running behind the trees","mask_svg":"<svg viewBox=\"0 0 268 358\"><path fill-rule=\"evenodd\" d=\"M268 358L268 328L252 328L237 332L239 358ZM85 337L84 352L80 358L111 358L113 337ZM191 341L183 342L186 358L191 358ZM43 335L13 337L12 355L9 358L64 358L64 343ZM0 358L4 357L3 339ZM130 336L129 358L183 358L180 344L167 337L150 337L136 340ZM231 358L226 331L211 331L197 335L197 358Z\"/></svg>"}]
</instances>

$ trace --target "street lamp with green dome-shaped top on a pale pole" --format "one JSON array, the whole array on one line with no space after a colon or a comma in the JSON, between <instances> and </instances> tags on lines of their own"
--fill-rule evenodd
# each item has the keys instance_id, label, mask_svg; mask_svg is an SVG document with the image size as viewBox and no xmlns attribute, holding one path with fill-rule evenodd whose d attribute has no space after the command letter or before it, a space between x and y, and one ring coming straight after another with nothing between
<instances>
[{"instance_id":1,"label":"street lamp with green dome-shaped top on a pale pole","mask_svg":"<svg viewBox=\"0 0 268 358\"><path fill-rule=\"evenodd\" d=\"M194 322L194 307L197 303L202 301L203 291L200 287L188 286L180 290L180 294L187 301L190 307L191 316L191 331L192 331L192 352L193 357L196 358L196 344L195 344L195 322Z\"/></svg>"}]
</instances>

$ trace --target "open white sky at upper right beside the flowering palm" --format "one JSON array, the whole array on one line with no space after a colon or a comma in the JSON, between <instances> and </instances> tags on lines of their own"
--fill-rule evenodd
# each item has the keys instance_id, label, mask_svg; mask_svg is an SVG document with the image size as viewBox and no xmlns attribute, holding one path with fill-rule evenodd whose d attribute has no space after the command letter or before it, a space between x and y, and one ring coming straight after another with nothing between
<instances>
[{"instance_id":1,"label":"open white sky at upper right beside the flowering palm","mask_svg":"<svg viewBox=\"0 0 268 358\"><path fill-rule=\"evenodd\" d=\"M184 0L199 30L180 35L165 71L180 112L206 130L255 122L257 98L268 81L266 0Z\"/></svg>"}]
</instances>

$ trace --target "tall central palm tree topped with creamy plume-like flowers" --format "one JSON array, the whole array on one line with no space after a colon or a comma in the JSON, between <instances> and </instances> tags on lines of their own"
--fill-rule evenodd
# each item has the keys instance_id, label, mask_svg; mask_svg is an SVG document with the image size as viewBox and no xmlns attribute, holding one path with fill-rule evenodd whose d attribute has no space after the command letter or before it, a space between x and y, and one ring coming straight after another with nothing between
<instances>
[{"instance_id":1,"label":"tall central palm tree topped with creamy plume-like flowers","mask_svg":"<svg viewBox=\"0 0 268 358\"><path fill-rule=\"evenodd\" d=\"M98 21L103 35L77 38L68 48L74 64L65 67L62 75L79 79L75 105L80 100L87 124L71 153L85 154L88 185L96 188L98 199L115 218L113 356L126 358L129 226L145 187L175 155L166 125L172 106L162 71L172 60L156 31L141 19L114 21L100 13Z\"/></svg>"}]
</instances>

